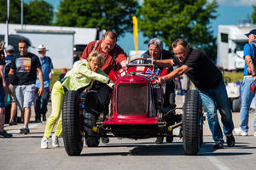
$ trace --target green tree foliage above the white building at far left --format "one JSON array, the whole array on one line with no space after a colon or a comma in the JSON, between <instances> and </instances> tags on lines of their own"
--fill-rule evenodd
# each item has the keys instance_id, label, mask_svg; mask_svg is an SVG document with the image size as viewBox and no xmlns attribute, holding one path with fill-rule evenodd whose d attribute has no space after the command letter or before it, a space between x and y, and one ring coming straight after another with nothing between
<instances>
[{"instance_id":1,"label":"green tree foliage above the white building at far left","mask_svg":"<svg viewBox=\"0 0 256 170\"><path fill-rule=\"evenodd\" d=\"M20 0L11 0L9 2L9 23L20 24ZM4 23L7 19L7 1L0 0L0 4L0 22ZM53 16L53 6L44 0L23 3L24 24L51 25Z\"/></svg>"}]
</instances>

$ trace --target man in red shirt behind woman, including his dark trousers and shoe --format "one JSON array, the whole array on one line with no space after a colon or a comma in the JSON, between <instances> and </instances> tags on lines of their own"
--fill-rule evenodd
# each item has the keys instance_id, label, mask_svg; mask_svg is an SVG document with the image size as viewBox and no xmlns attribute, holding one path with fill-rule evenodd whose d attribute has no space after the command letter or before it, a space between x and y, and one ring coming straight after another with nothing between
<instances>
[{"instance_id":1,"label":"man in red shirt behind woman, including his dark trousers and shoe","mask_svg":"<svg viewBox=\"0 0 256 170\"><path fill-rule=\"evenodd\" d=\"M119 67L126 66L127 58L124 50L120 48L116 42L117 34L113 31L107 31L102 40L88 43L84 49L82 58L86 59L92 51L96 50L104 55L104 65L101 68L102 71L109 74L112 69L118 70ZM108 105L112 88L109 88L102 82L95 81L90 89L97 91L99 94L98 100L102 104L102 111L104 115L108 115ZM108 141L108 138L102 138L102 143L108 143Z\"/></svg>"}]
</instances>

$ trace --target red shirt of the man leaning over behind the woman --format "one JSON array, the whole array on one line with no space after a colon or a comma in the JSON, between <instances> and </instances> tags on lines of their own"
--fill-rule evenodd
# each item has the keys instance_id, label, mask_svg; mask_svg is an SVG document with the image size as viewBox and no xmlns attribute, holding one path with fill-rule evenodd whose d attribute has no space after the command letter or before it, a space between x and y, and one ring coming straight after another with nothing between
<instances>
[{"instance_id":1,"label":"red shirt of the man leaning over behind the woman","mask_svg":"<svg viewBox=\"0 0 256 170\"><path fill-rule=\"evenodd\" d=\"M89 42L88 45L86 46L86 48L84 49L84 53L82 55L83 59L87 59L87 57L89 56L89 54L91 53L92 49L94 48L96 41L93 42ZM111 50L108 53L105 53L102 51L101 48L101 44L102 44L102 40L100 40L97 44L96 44L96 48L95 50L97 52L100 52L104 55L104 65L102 66L102 71L104 71L106 74L109 74L109 71L111 71L111 69L114 68L115 70L118 69L119 64L126 60L126 55L125 52L122 48L119 47L119 45L116 45L115 48L113 48L113 50ZM113 59L113 55L115 56L115 61ZM113 63L115 62L115 63Z\"/></svg>"}]
</instances>

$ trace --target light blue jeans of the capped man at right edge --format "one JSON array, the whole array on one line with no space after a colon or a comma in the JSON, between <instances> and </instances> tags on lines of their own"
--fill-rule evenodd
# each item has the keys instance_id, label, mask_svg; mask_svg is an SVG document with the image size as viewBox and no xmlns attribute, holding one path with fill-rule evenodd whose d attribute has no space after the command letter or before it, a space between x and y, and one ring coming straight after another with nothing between
<instances>
[{"instance_id":1,"label":"light blue jeans of the capped man at right edge","mask_svg":"<svg viewBox=\"0 0 256 170\"><path fill-rule=\"evenodd\" d=\"M240 127L241 130L247 132L249 121L249 110L253 98L256 99L256 95L251 91L251 85L253 84L253 77L244 78L241 81L241 110L240 110ZM256 103L255 103L256 104ZM256 106L256 105L255 105ZM256 131L256 118L253 123L254 132Z\"/></svg>"}]
</instances>

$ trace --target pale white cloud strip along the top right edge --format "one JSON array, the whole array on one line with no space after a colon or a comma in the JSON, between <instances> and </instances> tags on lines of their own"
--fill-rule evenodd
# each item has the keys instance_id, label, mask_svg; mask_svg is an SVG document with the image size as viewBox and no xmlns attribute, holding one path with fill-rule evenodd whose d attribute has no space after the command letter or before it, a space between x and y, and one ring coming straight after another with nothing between
<instances>
[{"instance_id":1,"label":"pale white cloud strip along the top right edge","mask_svg":"<svg viewBox=\"0 0 256 170\"><path fill-rule=\"evenodd\" d=\"M212 2L212 0L208 0ZM219 5L229 6L252 6L256 5L256 0L217 0Z\"/></svg>"}]
</instances>

